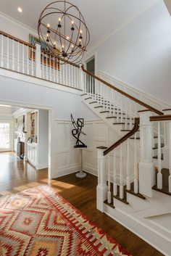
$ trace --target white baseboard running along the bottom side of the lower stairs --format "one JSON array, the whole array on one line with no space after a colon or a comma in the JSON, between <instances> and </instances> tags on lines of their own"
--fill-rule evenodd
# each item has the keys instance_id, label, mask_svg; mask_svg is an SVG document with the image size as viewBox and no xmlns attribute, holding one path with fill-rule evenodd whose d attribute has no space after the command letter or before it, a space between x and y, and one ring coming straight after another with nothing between
<instances>
[{"instance_id":1,"label":"white baseboard running along the bottom side of the lower stairs","mask_svg":"<svg viewBox=\"0 0 171 256\"><path fill-rule=\"evenodd\" d=\"M146 241L152 247L156 248L159 252L162 252L165 256L170 256L169 239L166 239L161 234L155 232L148 226L143 225L140 221L132 218L130 215L117 208L112 209L112 207L104 205L104 212L122 226L125 226L125 228L128 228L131 232Z\"/></svg>"}]
</instances>

